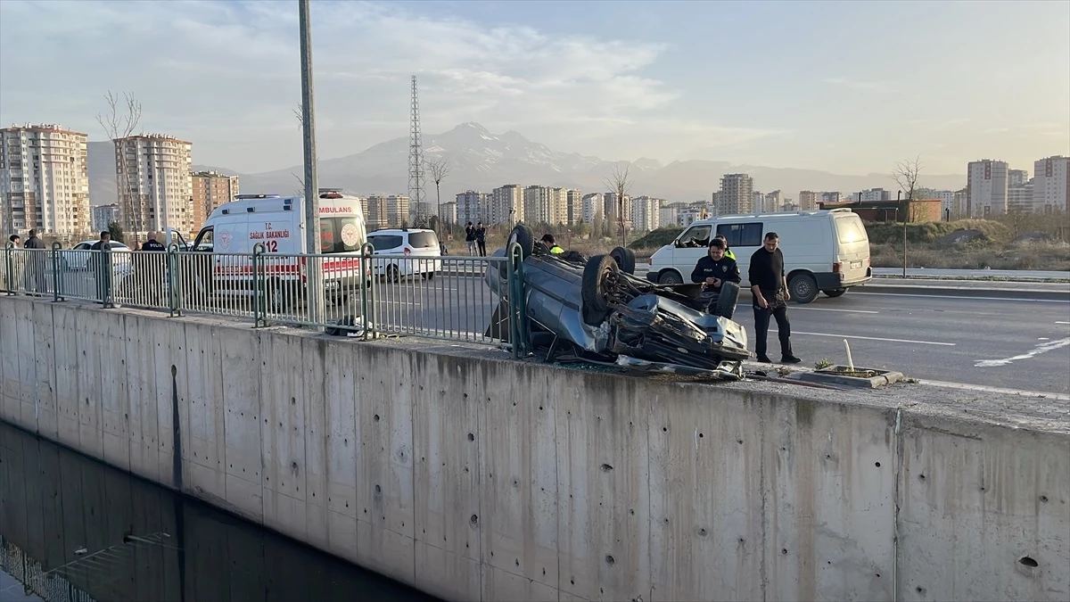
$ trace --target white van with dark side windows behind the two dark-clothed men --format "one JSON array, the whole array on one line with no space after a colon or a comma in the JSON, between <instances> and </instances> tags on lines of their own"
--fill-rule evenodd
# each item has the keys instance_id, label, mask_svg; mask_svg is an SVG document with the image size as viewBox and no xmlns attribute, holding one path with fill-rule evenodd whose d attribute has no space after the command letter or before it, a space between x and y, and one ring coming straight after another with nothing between
<instances>
[{"instance_id":1,"label":"white van with dark side windows behind the two dark-clothed men","mask_svg":"<svg viewBox=\"0 0 1070 602\"><path fill-rule=\"evenodd\" d=\"M766 232L780 237L788 287L792 299L799 303L813 301L817 291L839 297L873 277L866 227L857 214L845 208L722 215L694 222L651 256L646 277L660 284L690 282L694 265L707 253L709 239L723 235L739 265L742 286L749 288L750 256L762 247Z\"/></svg>"}]
</instances>

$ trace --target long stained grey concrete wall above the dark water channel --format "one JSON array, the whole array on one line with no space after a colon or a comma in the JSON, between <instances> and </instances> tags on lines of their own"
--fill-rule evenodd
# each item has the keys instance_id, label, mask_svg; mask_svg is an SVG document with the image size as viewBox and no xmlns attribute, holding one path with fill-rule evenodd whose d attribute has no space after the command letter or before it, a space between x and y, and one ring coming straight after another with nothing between
<instances>
[{"instance_id":1,"label":"long stained grey concrete wall above the dark water channel","mask_svg":"<svg viewBox=\"0 0 1070 602\"><path fill-rule=\"evenodd\" d=\"M1070 597L1058 425L12 298L0 341L0 419L447 599Z\"/></svg>"}]
</instances>

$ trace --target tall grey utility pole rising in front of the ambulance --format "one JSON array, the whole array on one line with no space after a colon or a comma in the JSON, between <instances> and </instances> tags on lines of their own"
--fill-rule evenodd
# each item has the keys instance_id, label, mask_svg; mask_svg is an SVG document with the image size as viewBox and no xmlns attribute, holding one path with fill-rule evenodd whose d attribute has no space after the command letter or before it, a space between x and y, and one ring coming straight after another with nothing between
<instances>
[{"instance_id":1,"label":"tall grey utility pole rising in front of the ambulance","mask_svg":"<svg viewBox=\"0 0 1070 602\"><path fill-rule=\"evenodd\" d=\"M301 120L305 142L305 253L320 252L320 191L316 178L316 110L312 94L312 36L308 0L299 0L301 6ZM308 318L322 323L323 266L309 261L306 268Z\"/></svg>"}]
</instances>

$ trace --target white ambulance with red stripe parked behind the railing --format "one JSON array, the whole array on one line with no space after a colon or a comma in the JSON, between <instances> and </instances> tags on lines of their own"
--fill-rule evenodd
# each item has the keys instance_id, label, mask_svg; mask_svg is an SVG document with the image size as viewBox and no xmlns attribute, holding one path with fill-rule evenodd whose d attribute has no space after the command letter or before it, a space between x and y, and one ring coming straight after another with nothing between
<instances>
[{"instance_id":1,"label":"white ambulance with red stripe parked behind the railing","mask_svg":"<svg viewBox=\"0 0 1070 602\"><path fill-rule=\"evenodd\" d=\"M361 199L340 189L319 193L320 249L312 257L306 256L303 197L241 194L212 211L189 251L182 253L193 258L187 261L192 273L183 274L187 295L251 294L258 245L257 271L265 280L269 311L290 311L303 301L309 262L322 266L324 292L335 303L360 295L362 274L371 283L370 261L361 260L367 241Z\"/></svg>"}]
</instances>

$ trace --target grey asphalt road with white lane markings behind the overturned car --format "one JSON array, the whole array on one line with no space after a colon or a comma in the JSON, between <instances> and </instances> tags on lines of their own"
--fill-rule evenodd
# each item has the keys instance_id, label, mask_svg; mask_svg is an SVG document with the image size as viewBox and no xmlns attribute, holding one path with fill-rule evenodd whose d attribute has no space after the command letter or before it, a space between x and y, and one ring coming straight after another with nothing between
<instances>
[{"instance_id":1,"label":"grey asphalt road with white lane markings behind the overturned car","mask_svg":"<svg viewBox=\"0 0 1070 602\"><path fill-rule=\"evenodd\" d=\"M494 310L483 281L435 277L384 285L379 321L391 320L482 334ZM448 301L448 303L447 303ZM819 360L897 370L910 377L1007 389L1070 393L1070 303L930 297L852 290L792 304L792 344L806 366ZM753 349L754 318L744 292L736 321ZM779 359L776 329L769 357Z\"/></svg>"}]
</instances>

